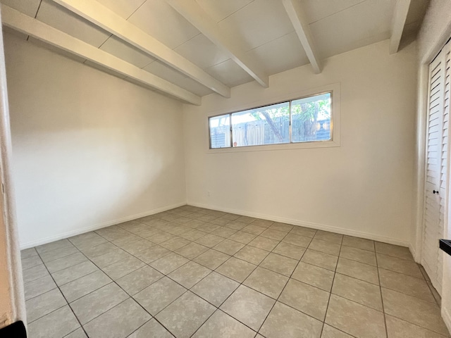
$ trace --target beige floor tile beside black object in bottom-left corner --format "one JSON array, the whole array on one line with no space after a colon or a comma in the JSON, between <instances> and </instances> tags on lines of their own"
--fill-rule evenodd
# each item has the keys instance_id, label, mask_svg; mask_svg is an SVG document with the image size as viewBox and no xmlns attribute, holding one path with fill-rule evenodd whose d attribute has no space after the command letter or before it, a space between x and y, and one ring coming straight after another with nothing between
<instances>
[{"instance_id":1,"label":"beige floor tile beside black object in bottom-left corner","mask_svg":"<svg viewBox=\"0 0 451 338\"><path fill-rule=\"evenodd\" d=\"M44 315L44 317L28 323L27 334L32 338L61 338L75 331L80 324L69 306Z\"/></svg>"}]
</instances>

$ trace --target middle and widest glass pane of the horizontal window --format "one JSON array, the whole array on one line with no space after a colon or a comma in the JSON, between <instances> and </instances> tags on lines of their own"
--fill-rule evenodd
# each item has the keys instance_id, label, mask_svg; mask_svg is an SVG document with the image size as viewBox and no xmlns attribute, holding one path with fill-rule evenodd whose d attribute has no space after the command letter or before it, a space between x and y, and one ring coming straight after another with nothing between
<instances>
[{"instance_id":1,"label":"middle and widest glass pane of the horizontal window","mask_svg":"<svg viewBox=\"0 0 451 338\"><path fill-rule=\"evenodd\" d=\"M233 146L290 142L290 103L232 114Z\"/></svg>"}]
</instances>

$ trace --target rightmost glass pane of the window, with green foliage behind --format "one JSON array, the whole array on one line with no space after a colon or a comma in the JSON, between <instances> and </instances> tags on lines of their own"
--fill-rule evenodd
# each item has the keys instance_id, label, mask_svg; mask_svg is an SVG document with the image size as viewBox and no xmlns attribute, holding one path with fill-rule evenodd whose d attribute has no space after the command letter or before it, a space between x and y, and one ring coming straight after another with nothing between
<instances>
[{"instance_id":1,"label":"rightmost glass pane of the window, with green foliage behind","mask_svg":"<svg viewBox=\"0 0 451 338\"><path fill-rule=\"evenodd\" d=\"M330 93L291 102L292 142L332 139Z\"/></svg>"}]
</instances>

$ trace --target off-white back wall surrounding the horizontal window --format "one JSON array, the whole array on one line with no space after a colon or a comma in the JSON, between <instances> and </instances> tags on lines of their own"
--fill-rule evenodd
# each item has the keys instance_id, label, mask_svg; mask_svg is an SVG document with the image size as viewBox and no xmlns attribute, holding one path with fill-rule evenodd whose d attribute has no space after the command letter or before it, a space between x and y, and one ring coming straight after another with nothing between
<instances>
[{"instance_id":1,"label":"off-white back wall surrounding the horizontal window","mask_svg":"<svg viewBox=\"0 0 451 338\"><path fill-rule=\"evenodd\" d=\"M207 117L340 82L341 146L209 153ZM381 42L185 105L187 202L404 244L412 222L416 46ZM210 192L210 196L207 196Z\"/></svg>"}]
</instances>

